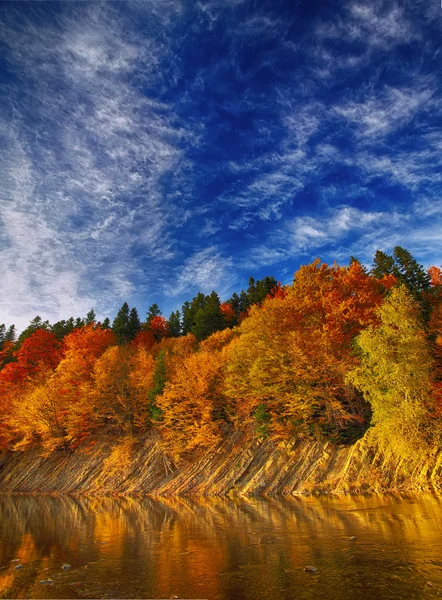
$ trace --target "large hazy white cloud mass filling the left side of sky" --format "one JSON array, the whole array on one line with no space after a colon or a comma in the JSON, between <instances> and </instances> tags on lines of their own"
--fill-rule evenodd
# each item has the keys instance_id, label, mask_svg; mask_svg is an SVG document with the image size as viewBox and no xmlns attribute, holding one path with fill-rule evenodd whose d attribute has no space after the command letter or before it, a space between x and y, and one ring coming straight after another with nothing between
<instances>
[{"instance_id":1,"label":"large hazy white cloud mass filling the left side of sky","mask_svg":"<svg viewBox=\"0 0 442 600\"><path fill-rule=\"evenodd\" d=\"M113 310L142 275L134 245L151 268L174 255L181 210L159 187L180 176L178 145L192 136L130 83L141 67L144 82L158 76L161 45L128 35L108 5L62 14L35 25L23 11L2 26L20 80L2 129L1 308L20 326Z\"/></svg>"}]
</instances>

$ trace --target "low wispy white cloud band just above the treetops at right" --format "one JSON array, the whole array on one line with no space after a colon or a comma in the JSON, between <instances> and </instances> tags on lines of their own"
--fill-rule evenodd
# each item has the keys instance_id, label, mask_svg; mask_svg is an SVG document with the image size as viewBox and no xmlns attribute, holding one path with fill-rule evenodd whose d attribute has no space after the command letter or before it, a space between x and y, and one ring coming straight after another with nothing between
<instances>
[{"instance_id":1,"label":"low wispy white cloud band just above the treetops at right","mask_svg":"<svg viewBox=\"0 0 442 600\"><path fill-rule=\"evenodd\" d=\"M305 262L319 256L348 263L353 255L369 265L376 250L391 252L399 245L430 266L442 255L440 223L434 220L441 211L442 202L434 209L415 203L407 210L376 212L342 205L322 216L305 215L285 223L248 252L241 264L250 269L291 263L295 269L296 259Z\"/></svg>"}]
</instances>

